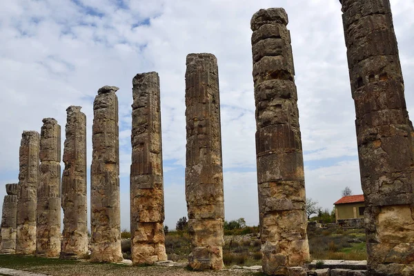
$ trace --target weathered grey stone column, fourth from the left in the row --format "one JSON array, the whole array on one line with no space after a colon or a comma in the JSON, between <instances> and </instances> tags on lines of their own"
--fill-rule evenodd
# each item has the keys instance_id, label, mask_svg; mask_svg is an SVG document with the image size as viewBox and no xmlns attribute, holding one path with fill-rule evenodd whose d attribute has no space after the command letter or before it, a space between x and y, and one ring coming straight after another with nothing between
<instances>
[{"instance_id":1,"label":"weathered grey stone column, fourth from the left in the row","mask_svg":"<svg viewBox=\"0 0 414 276\"><path fill-rule=\"evenodd\" d=\"M86 194L86 115L81 106L66 109L62 176L63 239L60 257L79 259L88 253Z\"/></svg>"}]
</instances>

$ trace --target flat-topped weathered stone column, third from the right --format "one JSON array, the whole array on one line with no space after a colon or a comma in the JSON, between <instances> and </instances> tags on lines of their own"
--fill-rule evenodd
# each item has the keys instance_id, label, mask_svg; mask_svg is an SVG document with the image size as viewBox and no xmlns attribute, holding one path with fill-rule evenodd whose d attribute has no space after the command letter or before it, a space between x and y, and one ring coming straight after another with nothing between
<instances>
[{"instance_id":1,"label":"flat-topped weathered stone column, third from the right","mask_svg":"<svg viewBox=\"0 0 414 276\"><path fill-rule=\"evenodd\" d=\"M223 268L224 193L219 74L211 54L186 61L186 200L196 270Z\"/></svg>"}]
</instances>

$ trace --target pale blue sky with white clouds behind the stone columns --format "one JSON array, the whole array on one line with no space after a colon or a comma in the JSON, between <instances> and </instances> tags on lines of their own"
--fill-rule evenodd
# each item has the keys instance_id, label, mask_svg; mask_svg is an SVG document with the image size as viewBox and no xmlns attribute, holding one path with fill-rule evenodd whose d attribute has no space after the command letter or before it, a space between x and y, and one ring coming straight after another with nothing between
<instances>
[{"instance_id":1,"label":"pale blue sky with white clouds behind the stone columns","mask_svg":"<svg viewBox=\"0 0 414 276\"><path fill-rule=\"evenodd\" d=\"M411 111L414 1L391 5ZM346 186L362 193L339 1L14 0L0 8L0 198L17 182L21 132L40 131L44 117L64 129L70 105L88 117L90 164L93 99L101 86L118 86L121 228L129 228L131 80L157 71L165 222L175 228L187 214L186 55L211 52L219 64L226 219L258 224L250 18L270 7L285 8L290 21L306 195L332 209Z\"/></svg>"}]
</instances>

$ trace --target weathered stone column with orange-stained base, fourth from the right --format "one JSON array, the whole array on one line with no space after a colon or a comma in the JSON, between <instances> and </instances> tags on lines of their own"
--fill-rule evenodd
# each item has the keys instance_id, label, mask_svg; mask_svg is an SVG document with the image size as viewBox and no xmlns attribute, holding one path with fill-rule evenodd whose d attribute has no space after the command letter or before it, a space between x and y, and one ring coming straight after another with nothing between
<instances>
[{"instance_id":1,"label":"weathered stone column with orange-stained base, fourth from the right","mask_svg":"<svg viewBox=\"0 0 414 276\"><path fill-rule=\"evenodd\" d=\"M133 264L166 261L161 110L157 72L132 79L132 165L130 172Z\"/></svg>"}]
</instances>

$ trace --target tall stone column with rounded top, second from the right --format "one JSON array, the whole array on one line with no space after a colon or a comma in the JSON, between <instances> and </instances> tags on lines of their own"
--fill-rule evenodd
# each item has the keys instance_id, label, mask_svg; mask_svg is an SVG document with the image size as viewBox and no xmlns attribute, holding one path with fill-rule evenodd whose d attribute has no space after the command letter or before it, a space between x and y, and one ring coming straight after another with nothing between
<instances>
[{"instance_id":1,"label":"tall stone column with rounded top, second from the right","mask_svg":"<svg viewBox=\"0 0 414 276\"><path fill-rule=\"evenodd\" d=\"M309 259L309 247L288 15L283 8L259 10L250 23L262 265L268 275L290 275Z\"/></svg>"}]
</instances>

